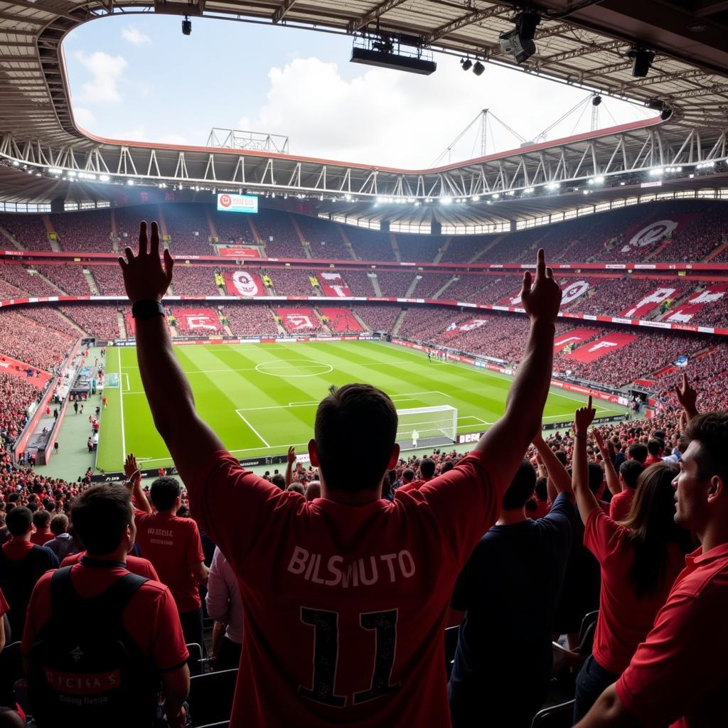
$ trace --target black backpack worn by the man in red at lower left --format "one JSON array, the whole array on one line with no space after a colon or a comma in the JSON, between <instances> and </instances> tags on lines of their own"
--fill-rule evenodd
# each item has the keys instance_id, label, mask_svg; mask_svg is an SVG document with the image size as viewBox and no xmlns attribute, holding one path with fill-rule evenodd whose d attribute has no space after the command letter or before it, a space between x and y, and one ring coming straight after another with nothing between
<instances>
[{"instance_id":1,"label":"black backpack worn by the man in red at lower left","mask_svg":"<svg viewBox=\"0 0 728 728\"><path fill-rule=\"evenodd\" d=\"M147 580L124 574L99 596L84 599L71 585L71 566L55 571L51 618L28 660L28 701L39 727L154 723L159 675L122 624L124 608Z\"/></svg>"}]
</instances>

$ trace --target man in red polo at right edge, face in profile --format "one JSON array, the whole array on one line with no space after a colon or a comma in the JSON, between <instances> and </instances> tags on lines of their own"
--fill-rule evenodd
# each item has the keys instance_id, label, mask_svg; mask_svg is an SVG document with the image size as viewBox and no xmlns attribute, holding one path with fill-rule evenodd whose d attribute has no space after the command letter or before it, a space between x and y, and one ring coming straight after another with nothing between
<instances>
[{"instance_id":1,"label":"man in red polo at right edge, face in profile","mask_svg":"<svg viewBox=\"0 0 728 728\"><path fill-rule=\"evenodd\" d=\"M685 435L675 521L702 545L629 667L578 728L728 725L728 411L693 417Z\"/></svg>"}]
</instances>

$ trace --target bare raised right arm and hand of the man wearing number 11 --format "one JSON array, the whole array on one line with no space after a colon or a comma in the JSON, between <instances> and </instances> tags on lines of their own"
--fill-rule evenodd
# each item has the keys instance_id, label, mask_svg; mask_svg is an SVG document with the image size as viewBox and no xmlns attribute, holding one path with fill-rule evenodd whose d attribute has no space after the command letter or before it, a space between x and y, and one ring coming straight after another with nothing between
<instances>
[{"instance_id":1,"label":"bare raised right arm and hand of the man wearing number 11","mask_svg":"<svg viewBox=\"0 0 728 728\"><path fill-rule=\"evenodd\" d=\"M500 483L510 483L523 454L541 426L541 416L551 383L554 323L561 305L561 288L546 267L539 250L536 279L523 274L521 301L531 319L531 331L518 373L508 392L505 414L476 446L489 457Z\"/></svg>"}]
</instances>

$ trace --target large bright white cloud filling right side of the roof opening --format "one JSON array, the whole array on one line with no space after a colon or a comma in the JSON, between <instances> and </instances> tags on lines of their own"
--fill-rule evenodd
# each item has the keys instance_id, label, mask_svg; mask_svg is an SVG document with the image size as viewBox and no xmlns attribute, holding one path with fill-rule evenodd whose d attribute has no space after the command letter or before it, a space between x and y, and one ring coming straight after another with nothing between
<instances>
[{"instance_id":1,"label":"large bright white cloud filling right side of the roof opening","mask_svg":"<svg viewBox=\"0 0 728 728\"><path fill-rule=\"evenodd\" d=\"M463 72L454 58L437 60L438 70L432 76L366 68L351 79L341 76L336 63L290 60L282 68L271 68L264 103L257 113L248 110L242 116L240 128L289 135L293 154L426 168L483 108L497 109L507 124L530 140L564 108L587 97L584 90L519 71L486 66L485 74L475 76ZM610 106L613 114L617 111L617 122L635 118L626 108L620 115L611 100ZM548 138L571 134L574 118L565 123ZM610 119L603 125L611 124ZM480 156L476 127L453 149L452 162ZM578 130L587 128L582 124ZM491 122L488 153L518 145L517 138ZM444 157L440 164L447 162Z\"/></svg>"}]
</instances>

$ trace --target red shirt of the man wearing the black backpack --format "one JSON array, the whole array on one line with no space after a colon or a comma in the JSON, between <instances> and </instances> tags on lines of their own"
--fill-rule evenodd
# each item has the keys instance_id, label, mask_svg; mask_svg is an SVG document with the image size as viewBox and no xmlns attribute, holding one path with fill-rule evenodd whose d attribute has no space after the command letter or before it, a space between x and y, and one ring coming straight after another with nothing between
<instances>
[{"instance_id":1,"label":"red shirt of the man wearing the black backpack","mask_svg":"<svg viewBox=\"0 0 728 728\"><path fill-rule=\"evenodd\" d=\"M71 584L82 598L93 598L127 574L121 564L99 568L77 563L71 567ZM39 579L28 605L23 630L23 654L30 654L36 635L50 620L49 571ZM180 668L189 657L180 618L170 590L156 581L145 582L135 592L122 614L122 623L143 654L149 655L160 672Z\"/></svg>"}]
</instances>

